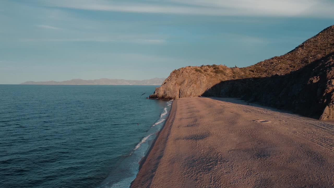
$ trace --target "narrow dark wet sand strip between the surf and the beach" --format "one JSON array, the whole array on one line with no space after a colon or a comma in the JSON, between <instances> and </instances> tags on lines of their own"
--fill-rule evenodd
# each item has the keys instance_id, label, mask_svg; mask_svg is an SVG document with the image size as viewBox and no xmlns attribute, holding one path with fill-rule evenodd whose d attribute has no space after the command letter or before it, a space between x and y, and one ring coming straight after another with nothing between
<instances>
[{"instance_id":1,"label":"narrow dark wet sand strip between the surf and the beach","mask_svg":"<svg viewBox=\"0 0 334 188\"><path fill-rule=\"evenodd\" d=\"M171 101L173 101L173 100L171 100ZM169 102L171 102L171 101L169 101ZM139 170L138 170L137 176L131 182L130 188L132 188L132 185L136 180L138 180L138 179L143 180L143 178L139 178L139 176L145 176L145 173L144 174L141 173L141 172L143 172L142 168L143 168L144 164L148 163L146 166L152 167L151 170L150 170L150 172L152 172L152 174L156 171L156 168L158 167L158 164L159 164L159 156L162 156L162 155L158 155L158 154L154 155L154 154L156 154L157 152L161 154L161 152L163 152L164 148L166 147L166 143L163 142L163 141L166 140L166 138L168 137L168 135L170 133L171 126L172 126L173 121L175 119L176 105L177 105L176 103L174 105L174 102L172 102L172 107L170 108L170 112L168 113L168 116L166 118L167 121L162 125L161 129L157 132L157 136L153 140L152 145L150 146L146 155L140 160ZM166 131L168 133L165 133ZM157 147L155 147L156 145L157 145ZM152 155L150 155L151 153L152 153ZM146 181L150 181L150 180L153 179L151 177L151 175L149 175L149 177L150 178L146 178Z\"/></svg>"}]
</instances>

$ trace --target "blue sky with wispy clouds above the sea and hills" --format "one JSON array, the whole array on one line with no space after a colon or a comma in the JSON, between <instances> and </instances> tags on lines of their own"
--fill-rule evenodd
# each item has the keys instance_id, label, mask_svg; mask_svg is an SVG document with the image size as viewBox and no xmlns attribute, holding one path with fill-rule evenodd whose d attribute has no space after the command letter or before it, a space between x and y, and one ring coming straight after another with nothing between
<instances>
[{"instance_id":1,"label":"blue sky with wispy clouds above the sea and hills","mask_svg":"<svg viewBox=\"0 0 334 188\"><path fill-rule=\"evenodd\" d=\"M334 24L333 0L0 0L0 84L245 67Z\"/></svg>"}]
</instances>

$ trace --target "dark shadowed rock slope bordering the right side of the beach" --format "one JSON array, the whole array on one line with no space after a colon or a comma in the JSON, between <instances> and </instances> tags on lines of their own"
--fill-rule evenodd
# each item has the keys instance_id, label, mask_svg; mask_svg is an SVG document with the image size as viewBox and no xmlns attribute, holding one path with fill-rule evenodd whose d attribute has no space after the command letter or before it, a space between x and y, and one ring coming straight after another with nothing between
<instances>
[{"instance_id":1,"label":"dark shadowed rock slope bordering the right side of the beach","mask_svg":"<svg viewBox=\"0 0 334 188\"><path fill-rule=\"evenodd\" d=\"M334 118L334 53L287 75L222 81L202 96L239 97L321 120Z\"/></svg>"}]
</instances>

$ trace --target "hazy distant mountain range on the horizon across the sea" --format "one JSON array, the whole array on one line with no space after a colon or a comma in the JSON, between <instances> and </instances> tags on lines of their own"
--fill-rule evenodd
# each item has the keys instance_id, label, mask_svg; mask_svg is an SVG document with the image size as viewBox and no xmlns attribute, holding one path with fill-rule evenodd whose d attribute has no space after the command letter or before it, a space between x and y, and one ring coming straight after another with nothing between
<instances>
[{"instance_id":1,"label":"hazy distant mountain range on the horizon across the sea","mask_svg":"<svg viewBox=\"0 0 334 188\"><path fill-rule=\"evenodd\" d=\"M72 79L61 82L45 81L45 82L23 82L25 85L161 85L165 78L152 78L149 80L123 80L101 78L98 80L82 80Z\"/></svg>"}]
</instances>

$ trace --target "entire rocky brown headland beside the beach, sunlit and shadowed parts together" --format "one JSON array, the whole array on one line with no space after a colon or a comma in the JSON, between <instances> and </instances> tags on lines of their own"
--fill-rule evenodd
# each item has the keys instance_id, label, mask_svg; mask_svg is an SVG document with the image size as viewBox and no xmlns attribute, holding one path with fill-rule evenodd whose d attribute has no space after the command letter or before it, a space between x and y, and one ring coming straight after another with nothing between
<instances>
[{"instance_id":1,"label":"entire rocky brown headland beside the beach, sunlit and shadowed parts together","mask_svg":"<svg viewBox=\"0 0 334 188\"><path fill-rule=\"evenodd\" d=\"M329 84L334 79L331 52L334 52L334 26L283 56L253 66L212 65L174 70L150 98L242 97L304 115L321 116L323 120L331 119L334 116Z\"/></svg>"}]
</instances>

